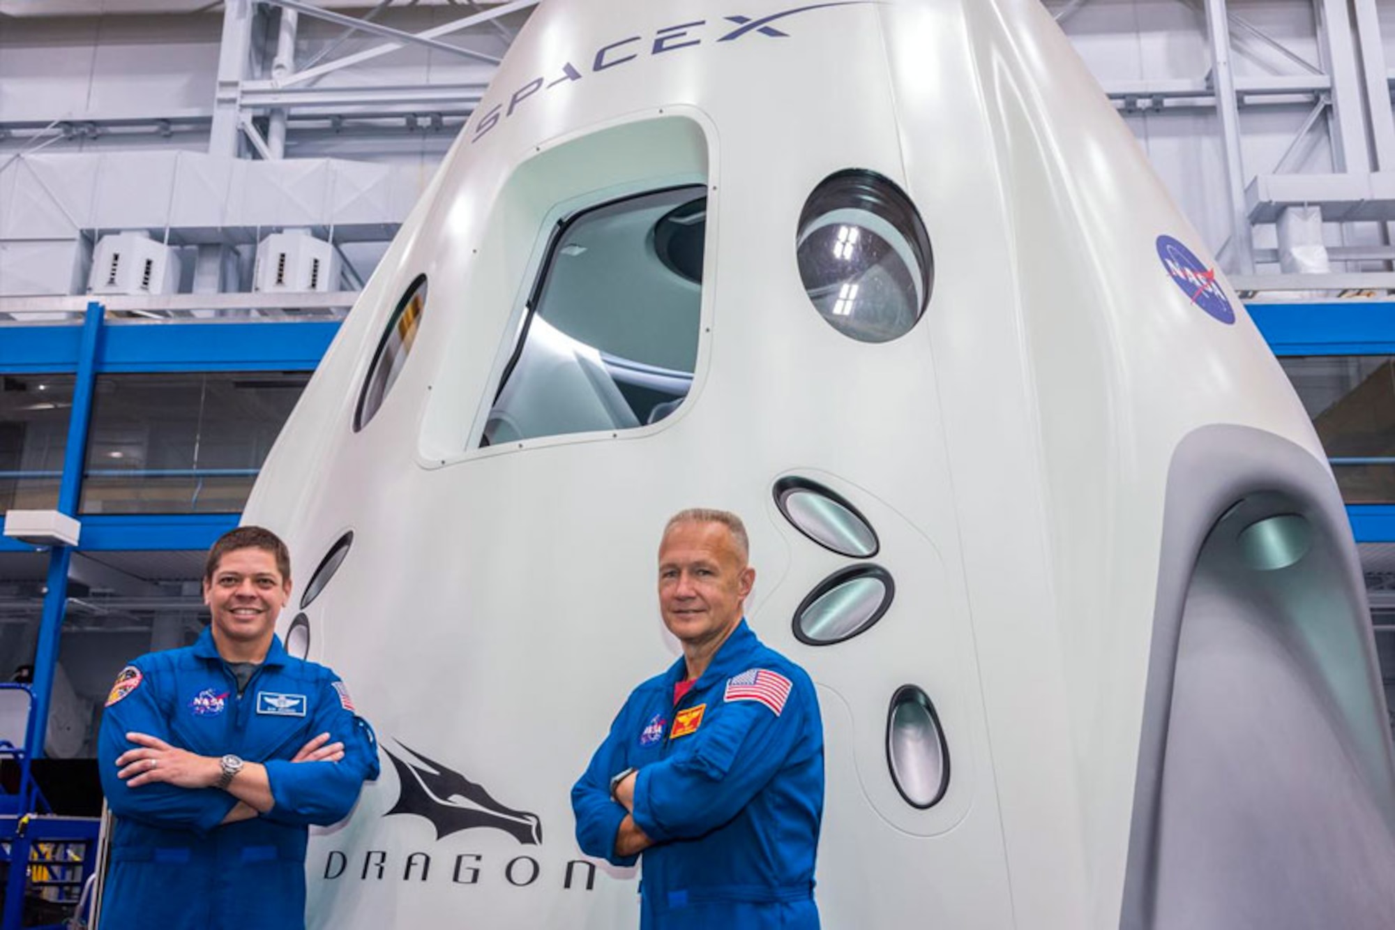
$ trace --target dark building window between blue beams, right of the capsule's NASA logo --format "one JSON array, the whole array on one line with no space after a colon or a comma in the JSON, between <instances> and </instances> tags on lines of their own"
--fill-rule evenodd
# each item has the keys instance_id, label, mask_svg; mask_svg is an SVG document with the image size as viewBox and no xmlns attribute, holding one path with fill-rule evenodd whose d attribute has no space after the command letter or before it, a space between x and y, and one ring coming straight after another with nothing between
<instances>
[{"instance_id":1,"label":"dark building window between blue beams, right of the capsule's NASA logo","mask_svg":"<svg viewBox=\"0 0 1395 930\"><path fill-rule=\"evenodd\" d=\"M1395 357L1281 357L1348 504L1395 503Z\"/></svg>"}]
</instances>

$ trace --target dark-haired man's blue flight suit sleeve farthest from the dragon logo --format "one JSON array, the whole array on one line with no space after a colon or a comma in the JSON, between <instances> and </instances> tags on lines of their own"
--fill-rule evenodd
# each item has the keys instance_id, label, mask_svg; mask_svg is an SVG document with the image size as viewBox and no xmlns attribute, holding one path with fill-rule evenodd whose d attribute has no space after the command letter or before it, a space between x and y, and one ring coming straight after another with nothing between
<instances>
[{"instance_id":1,"label":"dark-haired man's blue flight suit sleeve farthest from the dragon logo","mask_svg":"<svg viewBox=\"0 0 1395 930\"><path fill-rule=\"evenodd\" d=\"M227 817L237 799L216 788L176 788L166 782L151 782L130 788L117 778L117 757L138 748L126 739L127 733L145 733L172 746L179 743L170 735L170 725L159 705L158 686L140 665L141 683L102 714L98 735L98 772L102 790L112 813L133 821L165 829L193 829L206 834ZM156 670L158 676L160 672Z\"/></svg>"}]
</instances>

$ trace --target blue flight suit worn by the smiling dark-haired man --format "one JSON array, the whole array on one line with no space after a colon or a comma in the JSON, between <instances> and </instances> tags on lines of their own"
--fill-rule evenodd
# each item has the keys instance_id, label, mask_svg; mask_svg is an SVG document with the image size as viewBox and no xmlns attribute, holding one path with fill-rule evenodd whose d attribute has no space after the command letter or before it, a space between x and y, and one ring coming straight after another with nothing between
<instances>
[{"instance_id":1,"label":"blue flight suit worn by the smiling dark-haired man","mask_svg":"<svg viewBox=\"0 0 1395 930\"><path fill-rule=\"evenodd\" d=\"M364 779L378 776L372 729L349 708L339 676L292 658L279 638L241 697L209 630L188 648L127 666L98 741L102 789L117 817L102 926L303 930L308 825L343 820ZM130 732L199 755L261 762L276 803L259 817L219 825L237 803L227 792L165 782L128 788L116 758L137 747ZM290 761L325 732L345 744L343 760Z\"/></svg>"}]
</instances>

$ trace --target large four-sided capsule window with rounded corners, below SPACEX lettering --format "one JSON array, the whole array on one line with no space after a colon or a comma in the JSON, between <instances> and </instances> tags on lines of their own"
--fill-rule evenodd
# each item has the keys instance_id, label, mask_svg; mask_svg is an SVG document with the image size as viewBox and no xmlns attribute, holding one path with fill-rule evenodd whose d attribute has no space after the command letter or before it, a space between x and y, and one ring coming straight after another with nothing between
<instances>
[{"instance_id":1,"label":"large four-sided capsule window with rounded corners, below SPACEX lettering","mask_svg":"<svg viewBox=\"0 0 1395 930\"><path fill-rule=\"evenodd\" d=\"M707 189L558 225L480 445L628 430L682 404L698 360Z\"/></svg>"}]
</instances>

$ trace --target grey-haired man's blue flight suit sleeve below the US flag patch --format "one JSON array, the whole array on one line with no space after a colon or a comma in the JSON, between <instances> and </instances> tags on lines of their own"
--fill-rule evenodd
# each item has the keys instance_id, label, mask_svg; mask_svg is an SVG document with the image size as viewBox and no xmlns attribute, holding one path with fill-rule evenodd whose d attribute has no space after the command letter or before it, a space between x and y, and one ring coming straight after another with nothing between
<instances>
[{"instance_id":1,"label":"grey-haired man's blue flight suit sleeve below the US flag patch","mask_svg":"<svg viewBox=\"0 0 1395 930\"><path fill-rule=\"evenodd\" d=\"M693 839L721 827L751 803L815 726L806 676L777 715L759 701L732 701L721 716L679 739L695 740L688 753L646 765L635 778L635 824L656 843Z\"/></svg>"}]
</instances>

